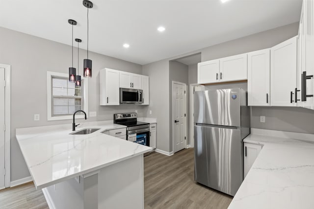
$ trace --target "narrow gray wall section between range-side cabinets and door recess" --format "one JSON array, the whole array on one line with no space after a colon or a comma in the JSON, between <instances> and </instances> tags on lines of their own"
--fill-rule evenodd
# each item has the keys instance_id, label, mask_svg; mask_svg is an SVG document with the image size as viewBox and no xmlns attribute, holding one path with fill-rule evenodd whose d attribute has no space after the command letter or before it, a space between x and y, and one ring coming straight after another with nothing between
<instances>
[{"instance_id":1,"label":"narrow gray wall section between range-side cabinets and door recess","mask_svg":"<svg viewBox=\"0 0 314 209\"><path fill-rule=\"evenodd\" d=\"M146 116L157 118L157 149L169 152L169 61L145 65L143 74L149 76L150 83L150 105L145 107Z\"/></svg>"}]
</instances>

